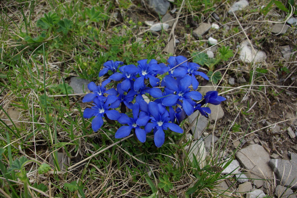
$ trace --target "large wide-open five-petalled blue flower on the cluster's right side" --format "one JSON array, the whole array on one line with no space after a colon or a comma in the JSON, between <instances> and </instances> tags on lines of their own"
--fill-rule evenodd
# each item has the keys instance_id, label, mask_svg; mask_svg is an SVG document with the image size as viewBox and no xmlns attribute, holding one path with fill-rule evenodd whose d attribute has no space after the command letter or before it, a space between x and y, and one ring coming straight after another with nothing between
<instances>
[{"instance_id":1,"label":"large wide-open five-petalled blue flower on the cluster's right side","mask_svg":"<svg viewBox=\"0 0 297 198\"><path fill-rule=\"evenodd\" d=\"M189 86L192 83L192 78L189 75L186 75L184 78L179 79L178 81L172 77L165 77L164 83L166 88L175 91L176 94L171 94L166 96L162 100L162 104L165 106L175 106L179 101L182 100L182 107L187 115L191 115L194 112L194 100L200 100L202 94L198 91L190 91ZM192 98L192 99L191 99Z\"/></svg>"}]
</instances>

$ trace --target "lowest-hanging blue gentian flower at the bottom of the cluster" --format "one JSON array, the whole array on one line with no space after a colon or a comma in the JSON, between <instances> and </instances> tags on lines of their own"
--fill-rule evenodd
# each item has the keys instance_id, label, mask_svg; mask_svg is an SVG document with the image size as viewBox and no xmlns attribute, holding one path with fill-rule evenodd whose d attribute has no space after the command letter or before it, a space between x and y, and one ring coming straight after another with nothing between
<instances>
[{"instance_id":1,"label":"lowest-hanging blue gentian flower at the bottom of the cluster","mask_svg":"<svg viewBox=\"0 0 297 198\"><path fill-rule=\"evenodd\" d=\"M167 128L177 133L183 133L182 128L180 128L177 124L169 122L169 112L162 104L149 102L148 110L151 115L151 122L146 124L144 130L146 133L149 133L152 129L154 129L154 142L156 147L161 147L164 144L164 130L167 130Z\"/></svg>"}]
</instances>

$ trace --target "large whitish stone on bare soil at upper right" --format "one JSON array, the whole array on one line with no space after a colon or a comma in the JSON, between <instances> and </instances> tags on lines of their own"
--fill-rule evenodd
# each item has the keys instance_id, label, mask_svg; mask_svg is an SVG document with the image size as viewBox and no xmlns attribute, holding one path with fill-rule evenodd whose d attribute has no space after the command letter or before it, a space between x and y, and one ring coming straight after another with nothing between
<instances>
[{"instance_id":1,"label":"large whitish stone on bare soil at upper right","mask_svg":"<svg viewBox=\"0 0 297 198\"><path fill-rule=\"evenodd\" d=\"M255 52L252 50L252 47L249 46L248 41L242 41L241 49L239 51L239 58L244 62L263 62L267 59L266 53L262 50L257 50L255 47Z\"/></svg>"}]
</instances>

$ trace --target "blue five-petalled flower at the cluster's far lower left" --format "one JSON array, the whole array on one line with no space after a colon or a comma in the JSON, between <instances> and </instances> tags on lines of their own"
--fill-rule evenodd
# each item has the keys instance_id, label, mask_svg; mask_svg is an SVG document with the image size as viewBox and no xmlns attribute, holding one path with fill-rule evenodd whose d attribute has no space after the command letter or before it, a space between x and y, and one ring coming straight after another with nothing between
<instances>
[{"instance_id":1,"label":"blue five-petalled flower at the cluster's far lower left","mask_svg":"<svg viewBox=\"0 0 297 198\"><path fill-rule=\"evenodd\" d=\"M93 116L94 119L92 120L92 129L93 131L98 131L103 125L104 115L106 115L110 120L117 120L120 118L120 113L116 110L109 110L109 104L115 102L117 99L114 95L108 95L105 102L99 100L98 98L94 99L94 106L87 108L83 111L84 118L91 118Z\"/></svg>"}]
</instances>

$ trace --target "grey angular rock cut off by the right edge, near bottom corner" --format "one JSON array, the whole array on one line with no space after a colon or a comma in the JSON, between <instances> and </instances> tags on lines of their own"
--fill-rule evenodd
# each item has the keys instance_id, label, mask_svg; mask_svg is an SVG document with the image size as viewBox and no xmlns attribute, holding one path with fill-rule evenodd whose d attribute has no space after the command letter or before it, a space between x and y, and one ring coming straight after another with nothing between
<instances>
[{"instance_id":1,"label":"grey angular rock cut off by the right edge, near bottom corner","mask_svg":"<svg viewBox=\"0 0 297 198\"><path fill-rule=\"evenodd\" d=\"M271 159L269 165L277 176L277 183L297 189L297 155L291 153L291 160Z\"/></svg>"}]
</instances>

